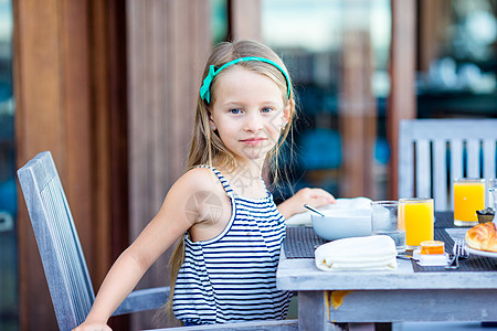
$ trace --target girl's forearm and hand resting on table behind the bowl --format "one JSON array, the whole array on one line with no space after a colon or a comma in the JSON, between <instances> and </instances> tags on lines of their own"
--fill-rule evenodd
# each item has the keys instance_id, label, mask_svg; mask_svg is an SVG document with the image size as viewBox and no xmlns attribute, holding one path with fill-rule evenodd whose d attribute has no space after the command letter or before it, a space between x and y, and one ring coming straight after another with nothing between
<instances>
[{"instance_id":1,"label":"girl's forearm and hand resting on table behind the bowl","mask_svg":"<svg viewBox=\"0 0 497 331\"><path fill-rule=\"evenodd\" d=\"M335 203L335 197L321 189L302 189L288 200L278 205L278 211L285 218L292 215L307 211L304 204L310 204L314 207Z\"/></svg>"}]
</instances>

